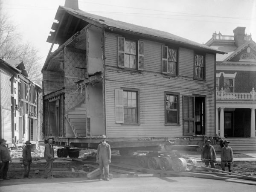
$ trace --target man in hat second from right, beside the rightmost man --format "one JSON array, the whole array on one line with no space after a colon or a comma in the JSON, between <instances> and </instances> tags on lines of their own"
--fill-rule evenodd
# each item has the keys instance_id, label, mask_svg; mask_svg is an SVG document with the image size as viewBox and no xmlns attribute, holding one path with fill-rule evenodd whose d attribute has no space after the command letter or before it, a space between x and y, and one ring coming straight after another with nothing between
<instances>
[{"instance_id":1,"label":"man in hat second from right, beside the rightmost man","mask_svg":"<svg viewBox=\"0 0 256 192\"><path fill-rule=\"evenodd\" d=\"M215 169L216 162L216 153L214 147L211 145L211 141L207 140L205 142L205 146L203 147L201 153L201 160L205 163L205 166L209 166L209 162L211 164L211 168Z\"/></svg>"}]
</instances>

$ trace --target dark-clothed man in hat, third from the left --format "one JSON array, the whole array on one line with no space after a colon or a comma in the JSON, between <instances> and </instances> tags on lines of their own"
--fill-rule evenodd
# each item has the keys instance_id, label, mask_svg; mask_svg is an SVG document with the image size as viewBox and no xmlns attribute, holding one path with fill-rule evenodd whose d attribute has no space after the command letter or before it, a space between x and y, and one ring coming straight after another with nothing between
<instances>
[{"instance_id":1,"label":"dark-clothed man in hat, third from the left","mask_svg":"<svg viewBox=\"0 0 256 192\"><path fill-rule=\"evenodd\" d=\"M44 159L46 160L45 176L47 179L51 179L53 161L55 160L52 146L53 138L49 138L47 141L48 143L45 145L44 148Z\"/></svg>"}]
</instances>

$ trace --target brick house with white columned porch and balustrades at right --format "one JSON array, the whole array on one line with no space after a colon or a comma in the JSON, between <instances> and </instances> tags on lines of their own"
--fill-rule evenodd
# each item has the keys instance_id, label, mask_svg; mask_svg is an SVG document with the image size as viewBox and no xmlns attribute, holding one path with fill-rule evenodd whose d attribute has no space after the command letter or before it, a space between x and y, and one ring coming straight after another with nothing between
<instances>
[{"instance_id":1,"label":"brick house with white columned porch and balustrades at right","mask_svg":"<svg viewBox=\"0 0 256 192\"><path fill-rule=\"evenodd\" d=\"M227 52L216 55L216 134L220 137L255 137L256 43L244 32L245 27L234 29L234 35L215 32L206 43Z\"/></svg>"}]
</instances>

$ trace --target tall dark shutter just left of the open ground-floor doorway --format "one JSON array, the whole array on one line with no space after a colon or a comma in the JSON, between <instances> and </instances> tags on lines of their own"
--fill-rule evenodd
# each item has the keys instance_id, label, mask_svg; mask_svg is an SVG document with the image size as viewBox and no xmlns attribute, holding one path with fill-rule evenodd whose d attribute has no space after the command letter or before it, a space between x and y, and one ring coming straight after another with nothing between
<instances>
[{"instance_id":1,"label":"tall dark shutter just left of the open ground-floor doorway","mask_svg":"<svg viewBox=\"0 0 256 192\"><path fill-rule=\"evenodd\" d=\"M183 96L183 135L195 134L195 96Z\"/></svg>"}]
</instances>

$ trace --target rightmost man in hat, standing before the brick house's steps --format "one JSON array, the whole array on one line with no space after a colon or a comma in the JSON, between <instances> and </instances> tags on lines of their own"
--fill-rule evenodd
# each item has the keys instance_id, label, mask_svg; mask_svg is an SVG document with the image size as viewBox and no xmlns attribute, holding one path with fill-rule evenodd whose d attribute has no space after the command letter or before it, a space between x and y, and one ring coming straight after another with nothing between
<instances>
[{"instance_id":1,"label":"rightmost man in hat, standing before the brick house's steps","mask_svg":"<svg viewBox=\"0 0 256 192\"><path fill-rule=\"evenodd\" d=\"M225 141L224 147L221 148L221 168L222 171L225 171L225 166L228 167L228 171L232 172L233 170L233 150L228 146L230 142Z\"/></svg>"}]
</instances>

